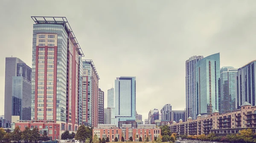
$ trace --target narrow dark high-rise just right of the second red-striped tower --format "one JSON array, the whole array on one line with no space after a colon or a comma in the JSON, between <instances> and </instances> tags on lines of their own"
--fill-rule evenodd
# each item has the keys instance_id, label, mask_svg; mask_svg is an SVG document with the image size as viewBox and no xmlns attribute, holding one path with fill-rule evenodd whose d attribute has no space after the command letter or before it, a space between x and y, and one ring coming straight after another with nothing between
<instances>
[{"instance_id":1,"label":"narrow dark high-rise just right of the second red-striped tower","mask_svg":"<svg viewBox=\"0 0 256 143\"><path fill-rule=\"evenodd\" d=\"M104 91L99 88L99 100L98 100L98 124L104 124Z\"/></svg>"}]
</instances>

